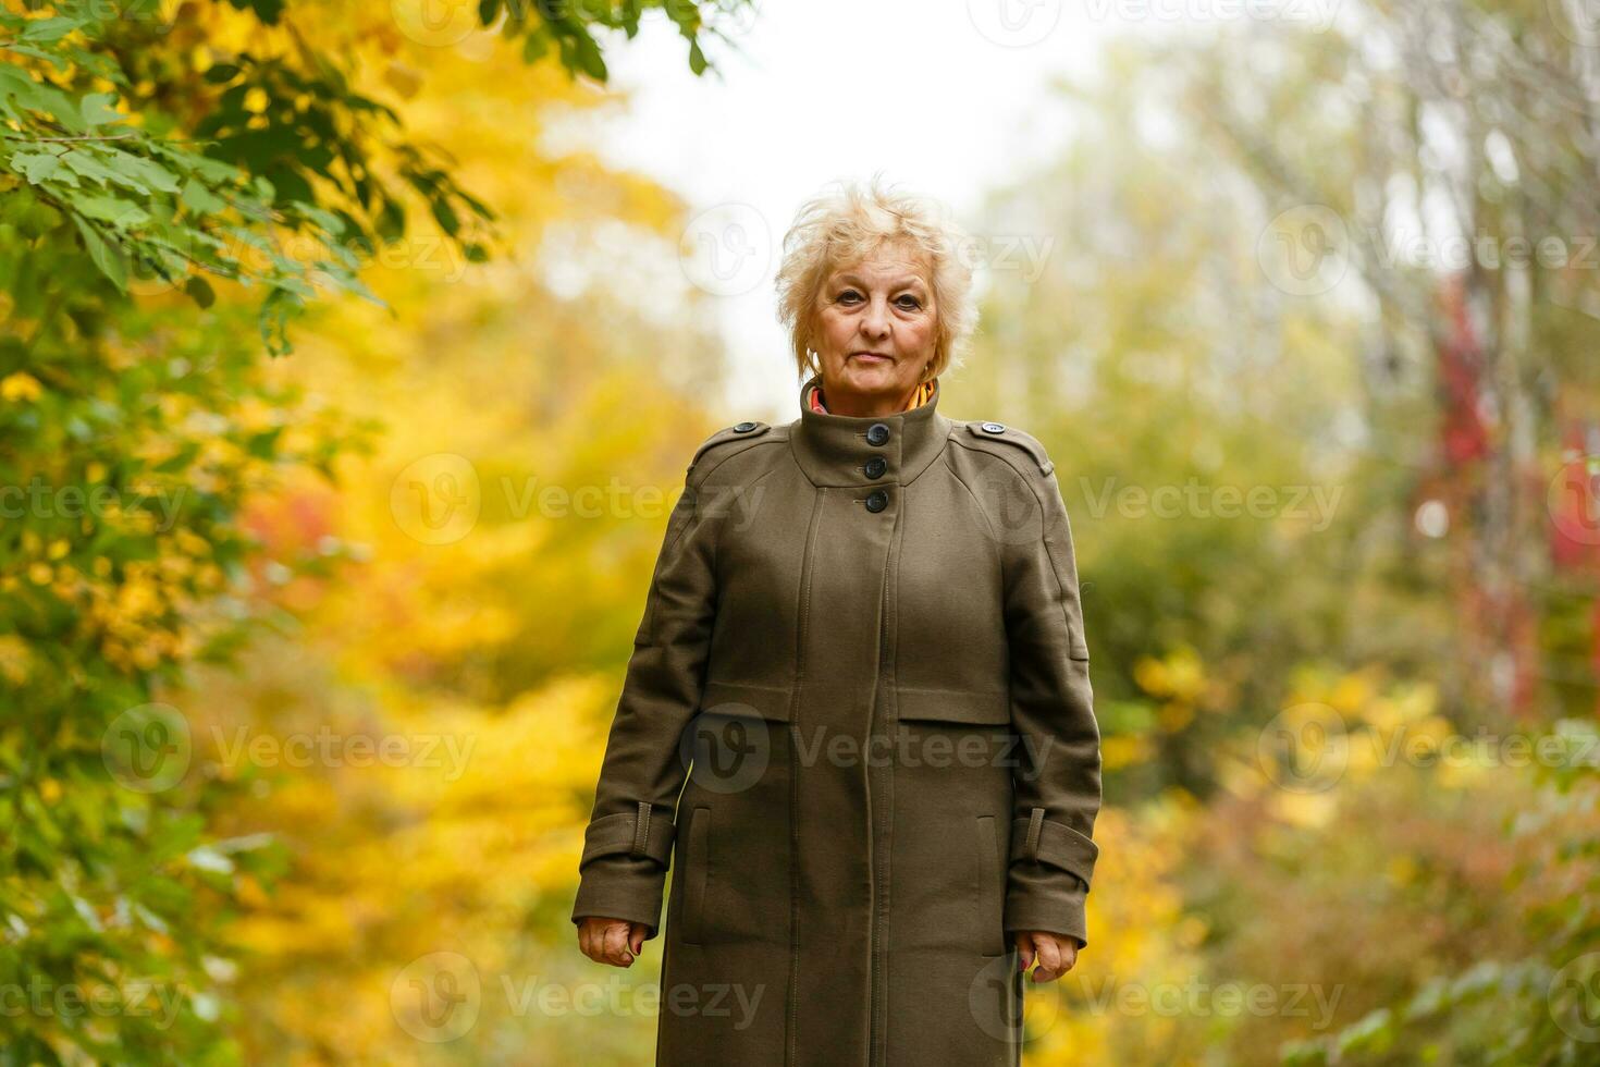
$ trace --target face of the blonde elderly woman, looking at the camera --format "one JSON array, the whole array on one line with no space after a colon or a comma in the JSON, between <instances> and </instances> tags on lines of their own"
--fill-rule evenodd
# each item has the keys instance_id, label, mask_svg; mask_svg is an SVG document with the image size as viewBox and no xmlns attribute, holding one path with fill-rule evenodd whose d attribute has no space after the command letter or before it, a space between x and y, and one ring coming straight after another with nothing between
<instances>
[{"instance_id":1,"label":"face of the blonde elderly woman, looking at the camera","mask_svg":"<svg viewBox=\"0 0 1600 1067\"><path fill-rule=\"evenodd\" d=\"M813 339L822 395L835 414L906 406L933 360L938 307L928 267L904 245L880 245L822 282Z\"/></svg>"}]
</instances>

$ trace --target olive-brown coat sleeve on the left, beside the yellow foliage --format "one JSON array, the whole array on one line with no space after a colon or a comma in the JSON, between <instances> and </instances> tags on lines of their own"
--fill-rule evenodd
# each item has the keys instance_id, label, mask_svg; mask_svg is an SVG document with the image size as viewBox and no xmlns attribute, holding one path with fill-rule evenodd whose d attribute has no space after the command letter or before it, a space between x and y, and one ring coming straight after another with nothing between
<instances>
[{"instance_id":1,"label":"olive-brown coat sleeve on the left, beside the yellow foliage","mask_svg":"<svg viewBox=\"0 0 1600 1067\"><path fill-rule=\"evenodd\" d=\"M672 509L611 720L584 833L573 923L586 915L661 921L675 808L688 776L680 739L699 709L715 621L717 523L694 488Z\"/></svg>"}]
</instances>

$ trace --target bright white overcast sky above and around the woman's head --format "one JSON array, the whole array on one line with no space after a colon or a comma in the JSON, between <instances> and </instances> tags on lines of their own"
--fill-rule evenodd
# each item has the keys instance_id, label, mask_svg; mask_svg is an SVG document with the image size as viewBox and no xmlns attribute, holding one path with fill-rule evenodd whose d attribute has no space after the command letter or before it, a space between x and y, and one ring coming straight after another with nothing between
<instances>
[{"instance_id":1,"label":"bright white overcast sky above and around the woman's head","mask_svg":"<svg viewBox=\"0 0 1600 1067\"><path fill-rule=\"evenodd\" d=\"M773 272L795 208L837 178L891 181L939 197L976 227L984 194L1059 152L1053 78L1091 77L1122 34L1259 18L1325 26L1339 0L760 0L712 45L722 74L696 78L664 13L606 50L629 107L584 139L691 205L680 270L718 299L738 360L728 421L798 414L773 314ZM1254 13L1254 14L1253 14Z\"/></svg>"}]
</instances>

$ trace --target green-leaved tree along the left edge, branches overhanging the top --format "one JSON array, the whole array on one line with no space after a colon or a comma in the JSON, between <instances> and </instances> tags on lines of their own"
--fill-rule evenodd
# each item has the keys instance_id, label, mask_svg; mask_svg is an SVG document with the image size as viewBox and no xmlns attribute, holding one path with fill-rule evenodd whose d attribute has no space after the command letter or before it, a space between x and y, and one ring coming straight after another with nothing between
<instances>
[{"instance_id":1,"label":"green-leaved tree along the left edge, branches overhanging the top","mask_svg":"<svg viewBox=\"0 0 1600 1067\"><path fill-rule=\"evenodd\" d=\"M595 34L654 6L701 72L739 5L477 18L603 80ZM318 286L371 296L358 274L414 232L408 200L467 261L493 237L450 157L355 88L360 22L334 11L0 11L0 985L27 998L0 1013L0 1062L240 1061L219 928L286 856L208 832L232 789L189 773L192 725L154 697L286 624L264 593L346 555L325 537L262 558L243 509L373 429L304 406L246 315L280 354Z\"/></svg>"}]
</instances>

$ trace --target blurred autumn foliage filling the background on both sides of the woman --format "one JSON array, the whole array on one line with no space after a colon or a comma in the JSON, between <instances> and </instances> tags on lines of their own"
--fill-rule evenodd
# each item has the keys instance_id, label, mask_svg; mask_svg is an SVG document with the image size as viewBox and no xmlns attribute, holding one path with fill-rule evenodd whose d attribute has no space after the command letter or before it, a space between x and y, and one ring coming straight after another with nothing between
<instances>
[{"instance_id":1,"label":"blurred autumn foliage filling the background on both sides of the woman","mask_svg":"<svg viewBox=\"0 0 1600 1067\"><path fill-rule=\"evenodd\" d=\"M550 282L693 208L539 134L742 3L403 6L3 6L0 1064L650 1059L566 917L733 371ZM1056 458L1107 769L1027 1062L1600 1057L1581 8L1128 42L970 222L1045 254L944 405Z\"/></svg>"}]
</instances>

